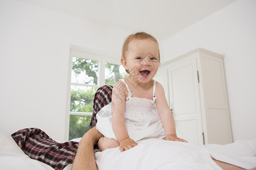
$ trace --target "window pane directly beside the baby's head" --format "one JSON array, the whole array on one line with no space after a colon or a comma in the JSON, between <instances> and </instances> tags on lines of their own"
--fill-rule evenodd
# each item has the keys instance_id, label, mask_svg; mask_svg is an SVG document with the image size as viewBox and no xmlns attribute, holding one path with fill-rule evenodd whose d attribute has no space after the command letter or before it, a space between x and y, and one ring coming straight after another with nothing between
<instances>
[{"instance_id":1,"label":"window pane directly beside the baby's head","mask_svg":"<svg viewBox=\"0 0 256 170\"><path fill-rule=\"evenodd\" d=\"M118 82L119 79L125 78L127 75L125 68L121 65L113 65L106 63L105 65L105 84L112 85Z\"/></svg>"}]
</instances>

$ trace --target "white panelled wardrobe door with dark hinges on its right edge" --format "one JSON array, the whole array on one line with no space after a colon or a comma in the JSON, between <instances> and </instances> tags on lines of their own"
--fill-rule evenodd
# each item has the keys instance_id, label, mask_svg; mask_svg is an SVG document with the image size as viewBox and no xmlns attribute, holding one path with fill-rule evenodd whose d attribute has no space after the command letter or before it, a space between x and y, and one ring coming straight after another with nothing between
<instances>
[{"instance_id":1,"label":"white panelled wardrobe door with dark hinges on its right edge","mask_svg":"<svg viewBox=\"0 0 256 170\"><path fill-rule=\"evenodd\" d=\"M171 63L168 80L177 137L203 144L196 58L183 58Z\"/></svg>"}]
</instances>

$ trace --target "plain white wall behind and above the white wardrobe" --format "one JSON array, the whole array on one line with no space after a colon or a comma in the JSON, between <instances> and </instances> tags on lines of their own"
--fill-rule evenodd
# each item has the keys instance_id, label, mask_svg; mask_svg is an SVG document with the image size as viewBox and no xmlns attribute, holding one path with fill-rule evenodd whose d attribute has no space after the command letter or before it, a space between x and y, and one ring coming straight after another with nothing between
<instances>
[{"instance_id":1,"label":"plain white wall behind and above the white wardrobe","mask_svg":"<svg viewBox=\"0 0 256 170\"><path fill-rule=\"evenodd\" d=\"M233 139L256 138L256 1L240 0L164 41L162 62L196 48L224 54Z\"/></svg>"}]
</instances>

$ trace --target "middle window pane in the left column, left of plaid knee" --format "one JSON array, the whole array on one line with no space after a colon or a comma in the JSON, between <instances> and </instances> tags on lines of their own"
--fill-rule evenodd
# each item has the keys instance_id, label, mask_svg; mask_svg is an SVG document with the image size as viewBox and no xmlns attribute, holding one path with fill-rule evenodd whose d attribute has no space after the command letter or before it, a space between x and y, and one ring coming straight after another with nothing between
<instances>
[{"instance_id":1,"label":"middle window pane in the left column, left of plaid knee","mask_svg":"<svg viewBox=\"0 0 256 170\"><path fill-rule=\"evenodd\" d=\"M97 88L71 86L71 112L93 112L93 99Z\"/></svg>"}]
</instances>

